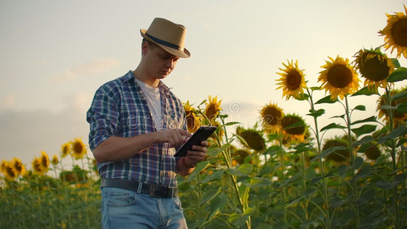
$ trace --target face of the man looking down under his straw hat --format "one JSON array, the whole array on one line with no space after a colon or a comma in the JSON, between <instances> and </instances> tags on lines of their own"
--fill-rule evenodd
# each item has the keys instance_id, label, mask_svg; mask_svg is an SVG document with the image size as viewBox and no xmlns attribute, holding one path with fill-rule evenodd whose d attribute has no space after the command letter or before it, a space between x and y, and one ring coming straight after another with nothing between
<instances>
[{"instance_id":1,"label":"face of the man looking down under his straw hat","mask_svg":"<svg viewBox=\"0 0 407 229\"><path fill-rule=\"evenodd\" d=\"M179 57L168 53L159 46L149 47L148 43L144 42L142 49L147 71L156 79L165 78L177 65Z\"/></svg>"}]
</instances>

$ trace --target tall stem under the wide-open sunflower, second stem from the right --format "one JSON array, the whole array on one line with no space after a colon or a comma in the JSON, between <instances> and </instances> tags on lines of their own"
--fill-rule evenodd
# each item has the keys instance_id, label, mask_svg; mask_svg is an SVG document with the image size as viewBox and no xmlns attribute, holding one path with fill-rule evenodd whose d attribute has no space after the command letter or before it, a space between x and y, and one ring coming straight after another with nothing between
<instances>
[{"instance_id":1,"label":"tall stem under the wide-open sunflower, second stem from the right","mask_svg":"<svg viewBox=\"0 0 407 229\"><path fill-rule=\"evenodd\" d=\"M347 140L349 144L349 154L351 155L351 167L352 167L352 192L353 192L353 203L356 203L356 198L357 198L357 188L356 188L356 181L355 181L355 169L353 168L353 165L355 163L355 157L353 155L353 146L352 146L352 130L351 130L351 114L349 111L349 103L347 101L347 95L345 97L345 113L346 113L346 126L347 126ZM359 205L356 204L355 206L356 210L356 227L359 227L360 225L360 217L359 217Z\"/></svg>"}]
</instances>

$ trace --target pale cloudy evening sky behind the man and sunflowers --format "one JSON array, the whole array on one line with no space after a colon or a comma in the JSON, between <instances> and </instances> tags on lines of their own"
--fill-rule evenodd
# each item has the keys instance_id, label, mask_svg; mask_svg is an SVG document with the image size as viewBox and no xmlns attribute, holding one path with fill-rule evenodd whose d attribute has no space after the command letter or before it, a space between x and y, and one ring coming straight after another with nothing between
<instances>
[{"instance_id":1,"label":"pale cloudy evening sky behind the man and sunflowers","mask_svg":"<svg viewBox=\"0 0 407 229\"><path fill-rule=\"evenodd\" d=\"M155 17L187 28L185 47L191 58L180 60L163 80L183 102L198 105L209 95L217 96L229 121L246 128L253 127L261 107L272 102L312 126L311 117L305 116L309 104L286 101L282 90L276 90L282 62L298 60L308 87L318 86L328 56L353 61L358 50L383 45L384 37L377 32L386 26L386 13L404 12L403 4L0 0L0 160L17 157L31 168L41 151L60 155L61 145L76 137L87 144L86 110L95 91L137 67L139 30L147 29ZM403 57L399 62L407 66ZM323 98L325 92L314 96ZM351 107L366 106L353 119L375 115L376 100L350 98ZM340 122L329 118L344 112L338 103L316 108L327 110L320 127ZM336 133L326 136L330 134Z\"/></svg>"}]
</instances>

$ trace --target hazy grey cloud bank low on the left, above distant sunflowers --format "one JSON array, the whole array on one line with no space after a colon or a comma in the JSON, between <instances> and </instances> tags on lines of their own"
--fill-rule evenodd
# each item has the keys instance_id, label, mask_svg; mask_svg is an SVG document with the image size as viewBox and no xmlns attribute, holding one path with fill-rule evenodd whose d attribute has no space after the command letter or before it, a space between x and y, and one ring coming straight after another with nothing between
<instances>
[{"instance_id":1,"label":"hazy grey cloud bank low on the left, above distant sunflowers","mask_svg":"<svg viewBox=\"0 0 407 229\"><path fill-rule=\"evenodd\" d=\"M89 124L86 122L86 110L90 102L86 103L91 100L88 97L85 93L66 97L67 106L58 112L0 109L0 160L17 157L27 169L31 169L31 161L39 157L41 151L50 157L60 156L61 145L76 137L81 137L87 145ZM90 151L88 154L92 158Z\"/></svg>"}]
</instances>

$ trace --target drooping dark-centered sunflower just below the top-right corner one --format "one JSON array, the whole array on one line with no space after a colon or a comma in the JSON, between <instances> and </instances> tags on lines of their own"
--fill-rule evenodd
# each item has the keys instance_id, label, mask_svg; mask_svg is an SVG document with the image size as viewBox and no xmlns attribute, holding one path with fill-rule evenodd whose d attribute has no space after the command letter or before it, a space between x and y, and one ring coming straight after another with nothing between
<instances>
[{"instance_id":1,"label":"drooping dark-centered sunflower just below the top-right corner one","mask_svg":"<svg viewBox=\"0 0 407 229\"><path fill-rule=\"evenodd\" d=\"M386 88L387 77L394 71L393 62L387 58L387 55L382 53L379 49L361 49L356 55L354 61L356 69L365 77L364 86L374 86L374 91L381 86Z\"/></svg>"}]
</instances>

